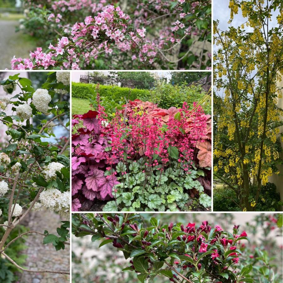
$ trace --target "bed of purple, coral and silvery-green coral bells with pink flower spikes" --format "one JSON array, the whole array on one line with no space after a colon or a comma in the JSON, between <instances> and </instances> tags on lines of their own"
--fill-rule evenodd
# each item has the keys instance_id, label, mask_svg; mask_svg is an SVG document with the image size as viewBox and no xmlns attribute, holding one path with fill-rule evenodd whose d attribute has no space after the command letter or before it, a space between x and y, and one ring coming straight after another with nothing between
<instances>
[{"instance_id":1,"label":"bed of purple, coral and silvery-green coral bells with pink flower spikes","mask_svg":"<svg viewBox=\"0 0 283 283\"><path fill-rule=\"evenodd\" d=\"M109 120L74 115L73 211L180 211L211 206L211 121L201 106L158 108L129 101Z\"/></svg>"}]
</instances>

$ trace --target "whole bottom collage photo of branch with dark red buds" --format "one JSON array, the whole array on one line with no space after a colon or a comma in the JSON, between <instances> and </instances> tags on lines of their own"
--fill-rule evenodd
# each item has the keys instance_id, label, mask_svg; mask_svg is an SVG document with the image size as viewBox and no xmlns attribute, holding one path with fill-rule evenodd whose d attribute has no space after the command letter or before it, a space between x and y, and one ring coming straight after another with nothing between
<instances>
[{"instance_id":1,"label":"whole bottom collage photo of branch with dark red buds","mask_svg":"<svg viewBox=\"0 0 283 283\"><path fill-rule=\"evenodd\" d=\"M72 280L280 283L279 217L274 213L72 214Z\"/></svg>"}]
</instances>

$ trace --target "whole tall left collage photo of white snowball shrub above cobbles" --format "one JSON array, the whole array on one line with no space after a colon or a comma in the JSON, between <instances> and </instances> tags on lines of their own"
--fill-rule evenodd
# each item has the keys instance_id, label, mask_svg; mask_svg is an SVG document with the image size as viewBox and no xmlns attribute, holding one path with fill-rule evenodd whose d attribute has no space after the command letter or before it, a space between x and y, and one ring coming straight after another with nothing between
<instances>
[{"instance_id":1,"label":"whole tall left collage photo of white snowball shrub above cobbles","mask_svg":"<svg viewBox=\"0 0 283 283\"><path fill-rule=\"evenodd\" d=\"M0 282L69 282L70 73L0 78Z\"/></svg>"}]
</instances>

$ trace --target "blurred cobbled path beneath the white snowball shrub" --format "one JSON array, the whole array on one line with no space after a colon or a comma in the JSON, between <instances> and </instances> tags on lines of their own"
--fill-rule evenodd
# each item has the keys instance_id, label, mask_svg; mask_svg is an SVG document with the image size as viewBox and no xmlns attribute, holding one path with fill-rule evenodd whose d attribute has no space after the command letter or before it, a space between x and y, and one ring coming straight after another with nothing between
<instances>
[{"instance_id":1,"label":"blurred cobbled path beneath the white snowball shrub","mask_svg":"<svg viewBox=\"0 0 283 283\"><path fill-rule=\"evenodd\" d=\"M61 219L58 214L49 210L41 210L31 213L28 226L31 230L43 232L48 230L49 233L55 234L57 227L61 225ZM25 250L27 259L25 268L31 270L49 269L69 271L69 246L66 245L64 250L56 251L52 244L43 245L43 236L29 234ZM20 276L21 283L65 283L69 282L69 275L53 273L30 273L23 272Z\"/></svg>"}]
</instances>

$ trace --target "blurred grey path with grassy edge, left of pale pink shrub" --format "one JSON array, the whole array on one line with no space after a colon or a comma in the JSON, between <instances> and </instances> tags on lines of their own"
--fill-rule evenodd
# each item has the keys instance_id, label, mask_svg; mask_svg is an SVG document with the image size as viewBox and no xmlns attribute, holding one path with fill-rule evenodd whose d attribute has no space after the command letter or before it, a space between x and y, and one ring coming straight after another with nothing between
<instances>
[{"instance_id":1,"label":"blurred grey path with grassy edge, left of pale pink shrub","mask_svg":"<svg viewBox=\"0 0 283 283\"><path fill-rule=\"evenodd\" d=\"M29 57L30 51L35 49L35 42L31 36L22 31L15 32L18 21L0 20L0 69L11 69L11 59Z\"/></svg>"}]
</instances>

